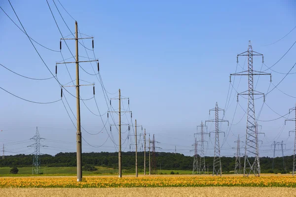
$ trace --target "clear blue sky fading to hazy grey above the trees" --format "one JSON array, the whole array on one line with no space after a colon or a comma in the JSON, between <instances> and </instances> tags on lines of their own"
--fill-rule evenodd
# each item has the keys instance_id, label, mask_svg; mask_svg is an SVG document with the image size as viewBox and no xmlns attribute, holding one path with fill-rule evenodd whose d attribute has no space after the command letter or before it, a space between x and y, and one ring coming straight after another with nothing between
<instances>
[{"instance_id":1,"label":"clear blue sky fading to hazy grey above the trees","mask_svg":"<svg viewBox=\"0 0 296 197\"><path fill-rule=\"evenodd\" d=\"M80 84L95 83L95 98L102 114L101 117L96 116L99 112L95 99L86 100L85 104L80 101L82 127L89 133L99 132L90 135L82 130L83 138L92 146L97 146L92 147L83 141L83 152L118 150L118 132L115 127L110 131L110 124L114 122L111 115L108 122L106 112L110 108L109 99L116 98L120 88L122 96L130 98L129 108L127 100L122 100L121 107L123 111L133 112L133 124L136 118L147 133L155 134L156 141L160 142L156 146L161 147L162 151L175 152L176 146L177 152L185 155L193 155L190 150L193 148L191 145L196 126L201 121L214 118L213 113L209 115L209 109L214 108L218 102L220 108L226 108L225 116L221 113L220 118L230 123L229 127L225 123L221 125L221 131L225 131L225 136L223 133L220 135L221 155L233 156L236 146L234 141L238 134L245 141L247 119L244 112L247 100L240 97L237 103L236 91L248 89L246 76L232 78L232 85L229 84L230 73L247 69L246 59L240 58L237 64L236 55L246 51L248 41L251 40L253 50L264 55L264 64L272 66L289 50L296 36L296 30L289 33L296 26L296 3L293 0L60 2L78 22L79 32L94 37L94 53L79 44L79 58L84 61L88 60L83 58L87 56L99 59L100 75L108 91L105 99L99 75L89 75L80 68L80 79L83 80ZM62 35L73 38L71 33L74 33L74 19L58 0L48 0L48 3ZM28 35L45 47L57 51L47 50L33 42L52 73L55 73L56 62L63 61L63 57L74 61L65 42L62 42L63 57L59 52L62 35L46 0L11 0L11 4ZM8 0L1 0L0 6L20 26ZM2 10L0 26L1 65L32 78L52 77L27 35ZM92 49L91 40L83 42L85 47ZM67 40L67 44L75 54L74 40ZM272 90L286 76L277 72L287 73L295 64L295 52L296 46L293 46L272 67L273 70L262 65L259 57L254 57L254 70L267 69L265 72L272 73L272 84L268 76L254 77L255 89L263 93ZM88 73L94 74L92 66L96 70L95 64L81 63L80 66ZM75 65L69 64L67 67L74 79ZM296 68L291 70L291 73L294 72ZM57 77L61 84L72 81L69 73L65 65L58 66ZM54 78L31 80L2 66L0 87L21 98L37 102L61 99L60 86ZM295 124L288 122L285 126L284 120L294 118L294 112L284 118L279 117L295 106L294 87L295 74L288 74L277 88L267 94L264 104L262 98L255 101L256 116L262 126L259 131L265 133L265 136L259 136L262 140L260 156L273 155L270 145L274 140L283 140L287 144L285 155L293 154L294 133L289 137L289 131L295 129ZM67 90L75 95L73 87ZM80 90L82 99L93 97L92 86L83 86ZM76 125L67 104L68 101L76 115L75 98L65 90L63 92L63 101ZM5 144L6 155L32 153L33 149L27 146L33 143L29 139L35 135L36 127L41 137L45 138L42 144L47 146L41 148L41 153L54 155L75 151L75 128L61 100L52 104L36 104L13 97L3 90L0 90L0 99L0 149ZM117 110L117 100L112 100L112 107ZM112 117L115 124L118 124L118 116L113 114ZM263 122L272 119L277 120ZM122 121L131 122L128 113L122 116ZM106 123L106 129L103 123ZM128 134L134 134L134 130L127 131L127 128L122 126L123 151L134 150L134 146L130 146L135 143L133 136L127 138ZM208 124L208 131L214 131L214 128L214 124ZM141 132L141 127L139 129ZM205 136L208 156L214 154L214 136L214 133L210 137ZM243 143L241 147L243 154ZM281 155L280 152L276 154Z\"/></svg>"}]
</instances>

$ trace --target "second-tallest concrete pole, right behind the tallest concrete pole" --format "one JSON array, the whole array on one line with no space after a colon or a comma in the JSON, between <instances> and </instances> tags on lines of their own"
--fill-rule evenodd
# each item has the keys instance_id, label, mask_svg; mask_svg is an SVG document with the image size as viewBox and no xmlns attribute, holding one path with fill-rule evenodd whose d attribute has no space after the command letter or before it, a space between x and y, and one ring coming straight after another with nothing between
<instances>
[{"instance_id":1,"label":"second-tallest concrete pole, right behind the tallest concrete pole","mask_svg":"<svg viewBox=\"0 0 296 197\"><path fill-rule=\"evenodd\" d=\"M118 125L111 125L111 126L118 126L118 139L119 139L119 145L118 145L118 177L121 178L122 177L122 165L121 165L121 161L122 161L122 158L121 158L121 126L122 125L128 125L128 124L121 124L121 99L128 99L128 104L129 104L129 98L121 98L121 93L120 93L120 89L118 90L118 98L115 98L115 99L118 99L118 111L108 111L107 113L107 117L109 118L109 113L118 113L118 119L119 119L119 122L118 122ZM111 105L111 99L110 99L110 105ZM124 113L131 113L131 118L132 118L132 112L131 111L124 111ZM111 126L110 126L110 131L111 131ZM129 125L128 125L128 128L130 129Z\"/></svg>"}]
</instances>

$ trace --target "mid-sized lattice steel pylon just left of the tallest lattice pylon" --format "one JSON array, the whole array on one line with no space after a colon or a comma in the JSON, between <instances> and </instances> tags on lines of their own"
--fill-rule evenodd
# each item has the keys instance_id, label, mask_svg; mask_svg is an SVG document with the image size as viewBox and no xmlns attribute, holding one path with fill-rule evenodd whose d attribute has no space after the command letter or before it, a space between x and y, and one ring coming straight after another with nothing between
<instances>
[{"instance_id":1,"label":"mid-sized lattice steel pylon just left of the tallest lattice pylon","mask_svg":"<svg viewBox=\"0 0 296 197\"><path fill-rule=\"evenodd\" d=\"M216 102L216 107L213 109L210 109L211 111L215 111L215 119L207 120L206 122L215 122L215 146L214 146L214 164L213 164L213 176L220 174L222 176L222 164L221 164L221 156L220 156L220 142L219 142L219 133L222 131L219 131L219 122L228 122L227 120L219 119L219 111L223 111L224 109L221 109L218 107L218 102ZM228 122L229 125L229 122ZM225 135L225 133L224 133Z\"/></svg>"}]
</instances>

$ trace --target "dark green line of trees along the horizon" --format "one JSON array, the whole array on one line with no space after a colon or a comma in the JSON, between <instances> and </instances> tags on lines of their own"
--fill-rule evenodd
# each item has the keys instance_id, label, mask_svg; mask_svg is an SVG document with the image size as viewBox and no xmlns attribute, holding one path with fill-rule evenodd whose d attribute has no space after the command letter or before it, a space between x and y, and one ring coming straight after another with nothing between
<instances>
[{"instance_id":1,"label":"dark green line of trees along the horizon","mask_svg":"<svg viewBox=\"0 0 296 197\"><path fill-rule=\"evenodd\" d=\"M152 154L150 156L152 161ZM209 173L213 170L213 157L205 157L206 169ZM193 157L185 156L180 153L166 153L156 152L155 153L156 167L157 169L168 169L168 170L192 170ZM249 158L250 162L254 161L254 158ZM33 155L11 155L5 156L4 159L0 159L0 167L25 167L32 166ZM292 171L293 167L293 156L285 156L283 164L283 158L274 158L274 169L272 170L273 158L261 157L260 167L262 173L267 172L287 172ZM235 157L221 157L222 172L231 173L235 167ZM55 156L51 155L40 155L41 166L48 167L60 167L60 166L76 166L76 153L58 153ZM92 166L106 166L116 168L118 164L118 153L82 153L82 165ZM152 164L151 164L152 165ZM243 169L244 158L241 158L241 165ZM148 169L148 153L146 155L146 166ZM144 152L138 152L138 167L139 169L144 168ZM122 152L122 168L123 169L134 169L135 168L135 152ZM243 170L241 171L243 172Z\"/></svg>"}]
</instances>

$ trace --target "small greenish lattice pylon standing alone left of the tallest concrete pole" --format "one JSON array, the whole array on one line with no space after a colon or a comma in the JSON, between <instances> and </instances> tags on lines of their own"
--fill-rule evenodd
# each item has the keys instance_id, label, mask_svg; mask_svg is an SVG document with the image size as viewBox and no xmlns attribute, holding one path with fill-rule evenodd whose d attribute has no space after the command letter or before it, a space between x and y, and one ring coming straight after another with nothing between
<instances>
[{"instance_id":1,"label":"small greenish lattice pylon standing alone left of the tallest concrete pole","mask_svg":"<svg viewBox=\"0 0 296 197\"><path fill-rule=\"evenodd\" d=\"M43 145L40 145L40 139L44 139L40 137L38 128L36 128L36 133L34 137L31 138L34 141L34 144L28 146L34 148L34 155L33 155L33 168L32 168L32 174L40 174L41 173L41 167L40 167L40 146L45 147Z\"/></svg>"}]
</instances>

